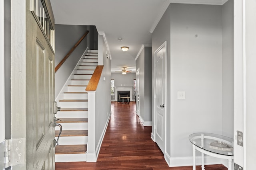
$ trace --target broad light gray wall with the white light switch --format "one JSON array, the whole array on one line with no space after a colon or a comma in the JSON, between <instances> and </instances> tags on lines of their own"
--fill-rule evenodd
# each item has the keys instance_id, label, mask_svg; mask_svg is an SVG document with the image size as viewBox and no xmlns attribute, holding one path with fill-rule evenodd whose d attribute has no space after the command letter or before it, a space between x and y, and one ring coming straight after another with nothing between
<instances>
[{"instance_id":1,"label":"broad light gray wall with the white light switch","mask_svg":"<svg viewBox=\"0 0 256 170\"><path fill-rule=\"evenodd\" d=\"M170 156L192 156L190 134L222 134L222 7L171 4L170 30Z\"/></svg>"}]
</instances>

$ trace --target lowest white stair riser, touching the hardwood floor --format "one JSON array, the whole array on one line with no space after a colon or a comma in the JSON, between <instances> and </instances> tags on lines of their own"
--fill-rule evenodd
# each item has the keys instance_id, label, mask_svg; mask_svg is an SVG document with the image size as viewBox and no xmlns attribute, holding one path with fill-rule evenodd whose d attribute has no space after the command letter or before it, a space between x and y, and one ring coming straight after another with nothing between
<instances>
[{"instance_id":1,"label":"lowest white stair riser, touching the hardwood floor","mask_svg":"<svg viewBox=\"0 0 256 170\"><path fill-rule=\"evenodd\" d=\"M85 162L86 153L84 154L55 154L55 162Z\"/></svg>"}]
</instances>

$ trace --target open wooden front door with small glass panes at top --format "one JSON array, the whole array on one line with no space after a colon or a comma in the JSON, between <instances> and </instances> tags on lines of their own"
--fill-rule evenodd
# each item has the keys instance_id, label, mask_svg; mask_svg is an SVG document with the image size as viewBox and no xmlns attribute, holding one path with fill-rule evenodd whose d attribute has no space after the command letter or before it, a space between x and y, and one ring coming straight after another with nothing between
<instances>
[{"instance_id":1,"label":"open wooden front door with small glass panes at top","mask_svg":"<svg viewBox=\"0 0 256 170\"><path fill-rule=\"evenodd\" d=\"M26 164L54 170L54 18L49 0L12 0L12 139L26 139Z\"/></svg>"}]
</instances>

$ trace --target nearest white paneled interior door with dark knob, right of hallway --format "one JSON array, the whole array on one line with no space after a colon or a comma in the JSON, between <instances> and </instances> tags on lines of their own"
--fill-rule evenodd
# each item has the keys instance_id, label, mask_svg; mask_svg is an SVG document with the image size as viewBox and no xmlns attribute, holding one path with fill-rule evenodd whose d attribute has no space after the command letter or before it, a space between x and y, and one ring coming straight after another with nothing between
<instances>
[{"instance_id":1,"label":"nearest white paneled interior door with dark knob, right of hallway","mask_svg":"<svg viewBox=\"0 0 256 170\"><path fill-rule=\"evenodd\" d=\"M154 52L154 134L165 153L166 133L166 41Z\"/></svg>"}]
</instances>

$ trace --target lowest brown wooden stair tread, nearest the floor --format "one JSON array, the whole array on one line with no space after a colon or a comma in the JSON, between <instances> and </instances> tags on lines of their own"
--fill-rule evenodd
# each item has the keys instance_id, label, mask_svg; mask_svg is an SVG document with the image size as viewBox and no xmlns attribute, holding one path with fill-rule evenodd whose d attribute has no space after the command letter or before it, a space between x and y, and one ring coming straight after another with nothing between
<instances>
[{"instance_id":1,"label":"lowest brown wooden stair tread, nearest the floor","mask_svg":"<svg viewBox=\"0 0 256 170\"><path fill-rule=\"evenodd\" d=\"M55 154L82 154L86 153L86 145L58 145Z\"/></svg>"}]
</instances>

